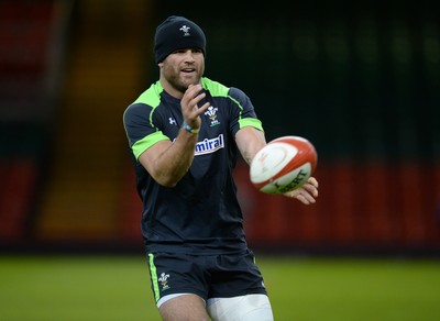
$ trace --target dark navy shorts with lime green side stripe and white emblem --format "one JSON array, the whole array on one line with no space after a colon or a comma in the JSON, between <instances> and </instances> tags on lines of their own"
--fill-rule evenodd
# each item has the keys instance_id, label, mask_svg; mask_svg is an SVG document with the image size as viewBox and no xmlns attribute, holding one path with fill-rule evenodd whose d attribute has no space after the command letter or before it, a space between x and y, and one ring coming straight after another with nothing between
<instances>
[{"instance_id":1,"label":"dark navy shorts with lime green side stripe and white emblem","mask_svg":"<svg viewBox=\"0 0 440 321\"><path fill-rule=\"evenodd\" d=\"M195 294L202 299L266 295L254 254L188 255L148 253L156 302L168 295Z\"/></svg>"}]
</instances>

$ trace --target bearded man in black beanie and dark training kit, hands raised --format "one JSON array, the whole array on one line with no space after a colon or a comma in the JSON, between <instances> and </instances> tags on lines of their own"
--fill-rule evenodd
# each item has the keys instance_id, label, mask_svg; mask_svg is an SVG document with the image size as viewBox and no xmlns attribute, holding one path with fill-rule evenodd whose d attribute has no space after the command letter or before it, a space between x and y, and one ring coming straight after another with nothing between
<instances>
[{"instance_id":1,"label":"bearded man in black beanie and dark training kit, hands raised","mask_svg":"<svg viewBox=\"0 0 440 321\"><path fill-rule=\"evenodd\" d=\"M206 37L184 16L156 29L160 80L124 112L142 235L164 320L273 320L232 178L266 142L248 96L202 77ZM308 204L310 178L287 197Z\"/></svg>"}]
</instances>

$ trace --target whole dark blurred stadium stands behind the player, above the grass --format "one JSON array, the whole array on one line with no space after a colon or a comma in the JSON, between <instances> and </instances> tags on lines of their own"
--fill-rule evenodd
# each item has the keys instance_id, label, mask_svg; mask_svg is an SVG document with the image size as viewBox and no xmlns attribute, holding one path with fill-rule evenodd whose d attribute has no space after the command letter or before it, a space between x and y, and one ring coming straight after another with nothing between
<instances>
[{"instance_id":1,"label":"whole dark blurred stadium stands behind the player, above the grass","mask_svg":"<svg viewBox=\"0 0 440 321\"><path fill-rule=\"evenodd\" d=\"M0 245L140 251L122 113L158 78L155 26L207 35L206 76L243 89L267 140L318 151L317 204L237 181L252 246L438 255L435 1L1 1Z\"/></svg>"}]
</instances>

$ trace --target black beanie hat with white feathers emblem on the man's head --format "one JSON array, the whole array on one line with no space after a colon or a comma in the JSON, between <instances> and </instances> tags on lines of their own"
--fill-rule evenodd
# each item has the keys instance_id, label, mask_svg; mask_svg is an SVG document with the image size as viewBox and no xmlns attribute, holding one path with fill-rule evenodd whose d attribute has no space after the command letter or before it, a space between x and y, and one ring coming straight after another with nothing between
<instances>
[{"instance_id":1,"label":"black beanie hat with white feathers emblem on the man's head","mask_svg":"<svg viewBox=\"0 0 440 321\"><path fill-rule=\"evenodd\" d=\"M156 64L170 53L183 48L200 48L206 55L204 31L185 16L168 16L156 29L154 36L154 56Z\"/></svg>"}]
</instances>

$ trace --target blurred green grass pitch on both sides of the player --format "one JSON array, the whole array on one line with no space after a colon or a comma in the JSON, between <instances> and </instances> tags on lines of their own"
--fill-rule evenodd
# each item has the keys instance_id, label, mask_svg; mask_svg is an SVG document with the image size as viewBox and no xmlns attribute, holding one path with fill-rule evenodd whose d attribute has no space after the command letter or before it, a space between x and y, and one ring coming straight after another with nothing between
<instances>
[{"instance_id":1,"label":"blurred green grass pitch on both sides of the player","mask_svg":"<svg viewBox=\"0 0 440 321\"><path fill-rule=\"evenodd\" d=\"M440 320L440 262L257 256L275 320ZM2 256L0 320L161 320L141 256Z\"/></svg>"}]
</instances>

